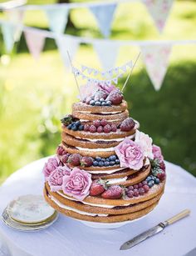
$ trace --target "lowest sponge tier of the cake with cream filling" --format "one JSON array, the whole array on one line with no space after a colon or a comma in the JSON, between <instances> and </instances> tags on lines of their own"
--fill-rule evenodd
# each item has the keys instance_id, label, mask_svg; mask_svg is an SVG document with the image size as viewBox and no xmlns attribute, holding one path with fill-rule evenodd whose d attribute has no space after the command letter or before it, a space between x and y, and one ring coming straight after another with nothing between
<instances>
[{"instance_id":1,"label":"lowest sponge tier of the cake with cream filling","mask_svg":"<svg viewBox=\"0 0 196 256\"><path fill-rule=\"evenodd\" d=\"M67 200L62 198L58 193L51 192L47 186L44 188L44 197L47 200L47 203L49 203L51 207L55 208L58 212L71 218L100 223L124 222L145 216L159 203L159 199L163 193L164 189L162 189L159 194L156 194L154 198L124 207L117 206L114 208L100 208L87 205L89 209L88 211L86 205L83 203ZM86 211L84 211L84 209ZM108 213L103 213L103 209L105 209L104 212ZM96 213L92 213L95 211Z\"/></svg>"}]
</instances>

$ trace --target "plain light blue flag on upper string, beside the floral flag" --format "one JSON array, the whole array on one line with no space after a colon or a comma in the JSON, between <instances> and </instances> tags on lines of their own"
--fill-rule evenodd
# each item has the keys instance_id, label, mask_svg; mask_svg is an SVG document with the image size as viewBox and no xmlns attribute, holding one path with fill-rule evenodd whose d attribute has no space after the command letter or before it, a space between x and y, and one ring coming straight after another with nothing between
<instances>
[{"instance_id":1,"label":"plain light blue flag on upper string, beside the floral flag","mask_svg":"<svg viewBox=\"0 0 196 256\"><path fill-rule=\"evenodd\" d=\"M115 3L106 5L101 4L90 7L91 12L96 17L100 32L104 35L105 38L110 36L110 28L113 21L115 8Z\"/></svg>"}]
</instances>

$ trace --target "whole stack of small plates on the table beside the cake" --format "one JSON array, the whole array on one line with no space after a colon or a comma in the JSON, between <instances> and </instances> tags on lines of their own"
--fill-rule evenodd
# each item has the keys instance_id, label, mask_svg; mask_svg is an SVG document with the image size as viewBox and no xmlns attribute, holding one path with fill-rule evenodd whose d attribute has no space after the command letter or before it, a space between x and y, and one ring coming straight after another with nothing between
<instances>
[{"instance_id":1,"label":"whole stack of small plates on the table beside the cake","mask_svg":"<svg viewBox=\"0 0 196 256\"><path fill-rule=\"evenodd\" d=\"M24 195L7 205L2 213L3 222L21 231L48 228L56 221L58 213L41 195Z\"/></svg>"}]
</instances>

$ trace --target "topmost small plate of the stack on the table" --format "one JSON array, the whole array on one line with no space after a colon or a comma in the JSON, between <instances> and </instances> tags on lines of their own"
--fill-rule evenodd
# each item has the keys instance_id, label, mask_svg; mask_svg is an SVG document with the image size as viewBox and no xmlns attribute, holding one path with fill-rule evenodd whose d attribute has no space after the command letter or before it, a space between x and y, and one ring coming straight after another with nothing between
<instances>
[{"instance_id":1,"label":"topmost small plate of the stack on the table","mask_svg":"<svg viewBox=\"0 0 196 256\"><path fill-rule=\"evenodd\" d=\"M41 195L24 195L9 203L7 213L17 222L42 223L55 213L55 209Z\"/></svg>"}]
</instances>

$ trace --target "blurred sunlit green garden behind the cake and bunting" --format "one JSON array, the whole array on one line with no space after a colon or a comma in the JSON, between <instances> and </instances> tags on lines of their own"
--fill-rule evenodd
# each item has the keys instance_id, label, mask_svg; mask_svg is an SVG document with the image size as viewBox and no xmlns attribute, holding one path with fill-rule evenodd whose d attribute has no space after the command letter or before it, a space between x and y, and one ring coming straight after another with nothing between
<instances>
[{"instance_id":1,"label":"blurred sunlit green garden behind the cake and bunting","mask_svg":"<svg viewBox=\"0 0 196 256\"><path fill-rule=\"evenodd\" d=\"M2 2L2 1L1 1ZM28 1L32 4L55 1ZM87 9L71 10L66 33L101 38L96 21ZM0 13L3 18L3 13ZM27 11L25 24L48 29L40 11ZM196 39L195 1L175 1L164 33L154 28L142 3L120 4L112 26L114 39ZM139 48L121 48L117 64L135 58ZM100 68L91 46L82 45L75 61ZM154 138L164 158L196 176L196 45L176 45L168 72L155 92L142 62L135 68L125 99L130 115L140 121L141 130ZM125 82L121 78L120 87ZM61 62L54 40L47 39L36 62L22 36L7 56L0 35L0 183L23 165L55 153L60 143L60 118L71 112L76 101L76 84Z\"/></svg>"}]
</instances>

